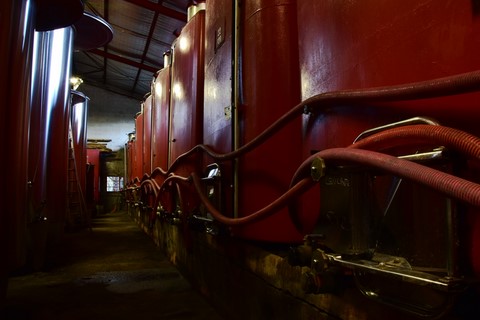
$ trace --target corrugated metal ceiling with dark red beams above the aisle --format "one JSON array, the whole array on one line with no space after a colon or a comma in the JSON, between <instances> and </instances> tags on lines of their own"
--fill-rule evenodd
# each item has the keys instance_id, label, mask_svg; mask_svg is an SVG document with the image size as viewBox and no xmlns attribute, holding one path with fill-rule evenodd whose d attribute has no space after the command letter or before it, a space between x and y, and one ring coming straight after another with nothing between
<instances>
[{"instance_id":1,"label":"corrugated metal ceiling with dark red beams above the aisle","mask_svg":"<svg viewBox=\"0 0 480 320\"><path fill-rule=\"evenodd\" d=\"M84 1L85 12L110 24L113 39L104 47L75 52L73 74L90 85L141 99L163 67L163 53L185 25L190 2Z\"/></svg>"}]
</instances>

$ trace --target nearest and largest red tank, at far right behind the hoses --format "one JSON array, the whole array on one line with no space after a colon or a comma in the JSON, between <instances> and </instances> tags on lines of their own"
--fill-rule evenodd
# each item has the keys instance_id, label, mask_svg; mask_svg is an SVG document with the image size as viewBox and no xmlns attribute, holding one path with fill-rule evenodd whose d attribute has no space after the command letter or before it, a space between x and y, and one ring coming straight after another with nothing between
<instances>
[{"instance_id":1,"label":"nearest and largest red tank, at far right behind the hoses","mask_svg":"<svg viewBox=\"0 0 480 320\"><path fill-rule=\"evenodd\" d=\"M456 90L468 77L376 89L478 70L480 20L471 1L357 0L348 5L298 1L298 17L301 99L333 91L326 96L328 100L320 96L307 105L302 123L304 158L354 142L353 148L361 145L375 151L376 146L362 140L394 127L405 126L403 130L409 134L418 124L435 132L440 129L432 127L446 126L480 134L480 95ZM432 89L439 84L443 87ZM451 96L442 97L447 94ZM408 143L389 140L385 144L382 148L388 148L390 154L416 163L419 154L438 152L445 146L443 141L428 146L423 138L413 136ZM339 150L336 157L344 154ZM449 155L420 163L478 182L478 163L465 160L464 155ZM478 252L471 249L478 250L480 245L478 210L436 191L449 179L417 183L365 164L342 164L327 163L329 171L317 189L320 212L307 210L318 202L311 197L304 199L310 205L293 215L302 232L322 235L322 245L340 254L381 253L405 258L413 270L438 270L448 276L480 274ZM395 171L393 165L387 166L388 170ZM462 250L458 247L461 243ZM422 277L425 275L418 278ZM373 280L368 273L357 278L367 294L382 292L374 297L378 300L402 301L399 304L422 315L433 314L439 307L440 302L429 300L430 293L422 291L422 302L412 302L411 294L392 292L381 279ZM417 310L419 305L429 307Z\"/></svg>"}]
</instances>

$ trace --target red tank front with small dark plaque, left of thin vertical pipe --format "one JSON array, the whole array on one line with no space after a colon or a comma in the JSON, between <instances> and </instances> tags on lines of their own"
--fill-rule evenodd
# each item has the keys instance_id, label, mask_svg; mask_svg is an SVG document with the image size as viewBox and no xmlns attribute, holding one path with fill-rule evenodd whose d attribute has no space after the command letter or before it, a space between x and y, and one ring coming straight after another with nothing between
<instances>
[{"instance_id":1,"label":"red tank front with small dark plaque, left of thin vertical pipe","mask_svg":"<svg viewBox=\"0 0 480 320\"><path fill-rule=\"evenodd\" d=\"M218 153L233 150L233 6L231 2L213 0L206 3L205 14L205 89L203 112L203 143ZM204 156L204 167L217 163ZM233 213L233 161L217 163L222 188L215 190L211 200L226 215ZM222 189L222 190L220 190ZM215 199L215 200L214 200Z\"/></svg>"}]
</instances>

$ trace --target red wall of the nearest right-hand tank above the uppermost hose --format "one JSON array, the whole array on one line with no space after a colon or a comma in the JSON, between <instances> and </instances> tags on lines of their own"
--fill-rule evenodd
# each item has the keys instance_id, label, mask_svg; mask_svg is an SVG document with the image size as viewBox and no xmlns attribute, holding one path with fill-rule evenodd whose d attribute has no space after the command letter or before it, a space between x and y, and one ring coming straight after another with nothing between
<instances>
[{"instance_id":1,"label":"red wall of the nearest right-hand tank above the uppermost hose","mask_svg":"<svg viewBox=\"0 0 480 320\"><path fill-rule=\"evenodd\" d=\"M434 79L480 66L480 21L468 0L310 0L300 1L298 8L302 99ZM428 108L442 116L463 116L447 106ZM471 112L478 115L478 110Z\"/></svg>"}]
</instances>

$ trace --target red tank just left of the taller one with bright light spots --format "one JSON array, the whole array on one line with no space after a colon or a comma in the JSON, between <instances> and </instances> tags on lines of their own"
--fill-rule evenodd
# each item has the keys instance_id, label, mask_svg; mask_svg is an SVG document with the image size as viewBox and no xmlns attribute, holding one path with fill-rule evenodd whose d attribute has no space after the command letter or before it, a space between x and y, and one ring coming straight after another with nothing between
<instances>
[{"instance_id":1,"label":"red tank just left of the taller one with bright light spots","mask_svg":"<svg viewBox=\"0 0 480 320\"><path fill-rule=\"evenodd\" d=\"M168 119L170 111L170 66L157 74L153 90L152 169L168 169Z\"/></svg>"}]
</instances>

